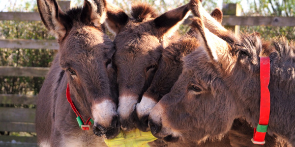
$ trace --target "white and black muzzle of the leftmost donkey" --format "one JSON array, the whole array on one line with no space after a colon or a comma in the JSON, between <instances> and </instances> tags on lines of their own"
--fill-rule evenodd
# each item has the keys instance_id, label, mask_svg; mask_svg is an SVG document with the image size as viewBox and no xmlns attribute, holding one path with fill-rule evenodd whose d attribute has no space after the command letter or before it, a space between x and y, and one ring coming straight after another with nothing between
<instances>
[{"instance_id":1,"label":"white and black muzzle of the leftmost donkey","mask_svg":"<svg viewBox=\"0 0 295 147\"><path fill-rule=\"evenodd\" d=\"M119 134L120 122L116 109L117 106L111 101L104 101L92 107L95 135L112 139Z\"/></svg>"}]
</instances>

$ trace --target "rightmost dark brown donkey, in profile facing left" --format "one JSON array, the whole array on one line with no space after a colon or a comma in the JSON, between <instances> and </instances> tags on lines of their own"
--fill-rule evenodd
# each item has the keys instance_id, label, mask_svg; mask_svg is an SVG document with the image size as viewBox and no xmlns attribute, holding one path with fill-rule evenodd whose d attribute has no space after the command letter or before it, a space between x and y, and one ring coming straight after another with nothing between
<instances>
[{"instance_id":1,"label":"rightmost dark brown donkey, in profile facing left","mask_svg":"<svg viewBox=\"0 0 295 147\"><path fill-rule=\"evenodd\" d=\"M270 56L270 119L268 132L295 146L295 47L286 38L263 48L258 35L209 32L201 19L193 23L203 43L184 58L184 67L171 92L153 108L153 135L201 141L231 129L244 117L257 126L260 109L260 56ZM219 30L219 28L216 28ZM226 41L225 41L226 40Z\"/></svg>"}]
</instances>

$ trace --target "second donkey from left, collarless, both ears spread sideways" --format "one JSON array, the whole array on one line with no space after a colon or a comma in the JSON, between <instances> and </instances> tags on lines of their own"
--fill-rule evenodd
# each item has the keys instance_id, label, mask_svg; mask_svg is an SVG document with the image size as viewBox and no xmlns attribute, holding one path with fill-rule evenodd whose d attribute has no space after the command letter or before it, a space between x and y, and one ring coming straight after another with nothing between
<instances>
[{"instance_id":1,"label":"second donkey from left, collarless, both ears spread sideways","mask_svg":"<svg viewBox=\"0 0 295 147\"><path fill-rule=\"evenodd\" d=\"M129 18L120 8L109 5L106 24L116 35L114 62L118 67L118 114L121 128L132 130L133 112L158 67L168 38L188 15L186 5L161 16L148 4L132 6Z\"/></svg>"}]
</instances>

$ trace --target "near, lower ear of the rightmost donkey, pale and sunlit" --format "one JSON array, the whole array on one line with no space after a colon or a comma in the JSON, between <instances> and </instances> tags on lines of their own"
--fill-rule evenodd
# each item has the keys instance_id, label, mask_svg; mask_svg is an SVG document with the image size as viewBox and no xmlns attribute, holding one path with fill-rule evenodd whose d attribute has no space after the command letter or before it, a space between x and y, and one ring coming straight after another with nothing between
<instances>
[{"instance_id":1,"label":"near, lower ear of the rightmost donkey, pale and sunlit","mask_svg":"<svg viewBox=\"0 0 295 147\"><path fill-rule=\"evenodd\" d=\"M210 61L218 66L222 65L225 70L228 69L232 56L230 45L205 28L200 18L194 18L192 21L191 26L197 30L197 38L201 47L207 51Z\"/></svg>"}]
</instances>

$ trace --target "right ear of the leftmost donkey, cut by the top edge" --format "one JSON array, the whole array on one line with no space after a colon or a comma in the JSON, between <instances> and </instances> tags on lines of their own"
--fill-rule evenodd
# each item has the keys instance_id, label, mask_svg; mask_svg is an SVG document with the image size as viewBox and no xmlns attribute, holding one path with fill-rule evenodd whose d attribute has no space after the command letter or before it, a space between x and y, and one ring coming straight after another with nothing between
<instances>
[{"instance_id":1,"label":"right ear of the leftmost donkey, cut by the top edge","mask_svg":"<svg viewBox=\"0 0 295 147\"><path fill-rule=\"evenodd\" d=\"M85 0L81 13L81 21L99 26L106 20L106 0Z\"/></svg>"}]
</instances>

